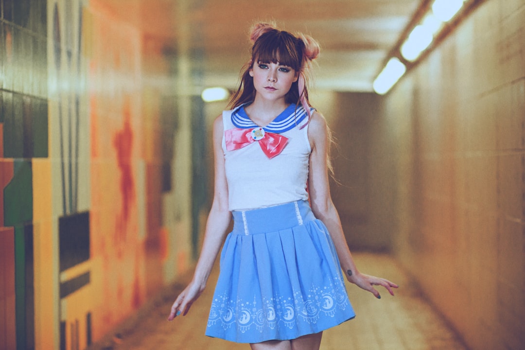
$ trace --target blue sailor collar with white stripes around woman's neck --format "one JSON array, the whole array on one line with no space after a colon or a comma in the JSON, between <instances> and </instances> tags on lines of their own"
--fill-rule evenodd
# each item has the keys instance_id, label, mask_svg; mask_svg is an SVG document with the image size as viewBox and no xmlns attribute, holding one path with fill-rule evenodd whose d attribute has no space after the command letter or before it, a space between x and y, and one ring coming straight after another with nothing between
<instances>
[{"instance_id":1,"label":"blue sailor collar with white stripes around woman's neck","mask_svg":"<svg viewBox=\"0 0 525 350\"><path fill-rule=\"evenodd\" d=\"M232 123L239 129L250 129L259 128L259 125L255 124L249 118L244 108L249 103L241 104L239 107L234 109L232 112ZM313 108L311 109L313 110ZM264 131L273 133L282 133L289 131L296 126L302 128L308 123L308 114L302 107L302 105L290 104L284 111L282 111L276 118L266 125Z\"/></svg>"}]
</instances>

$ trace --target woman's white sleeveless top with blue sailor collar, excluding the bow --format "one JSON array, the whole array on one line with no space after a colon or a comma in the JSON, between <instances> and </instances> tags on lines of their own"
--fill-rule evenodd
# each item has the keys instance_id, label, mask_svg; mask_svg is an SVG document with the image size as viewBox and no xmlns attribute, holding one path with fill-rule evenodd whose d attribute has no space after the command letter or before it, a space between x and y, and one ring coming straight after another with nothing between
<instances>
[{"instance_id":1,"label":"woman's white sleeveless top with blue sailor collar, excluding the bow","mask_svg":"<svg viewBox=\"0 0 525 350\"><path fill-rule=\"evenodd\" d=\"M313 110L313 109L312 109ZM244 105L223 112L224 130L259 128L251 121ZM227 151L223 134L222 147L228 183L229 210L268 207L295 200L307 200L308 115L301 105L291 104L264 131L288 138L282 152L271 159L258 141L240 149Z\"/></svg>"}]
</instances>

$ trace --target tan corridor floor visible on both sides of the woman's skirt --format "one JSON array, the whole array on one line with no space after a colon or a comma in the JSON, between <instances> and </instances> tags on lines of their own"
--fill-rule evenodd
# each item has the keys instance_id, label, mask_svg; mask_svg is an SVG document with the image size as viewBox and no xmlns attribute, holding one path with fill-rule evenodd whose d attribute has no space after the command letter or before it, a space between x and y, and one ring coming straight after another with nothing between
<instances>
[{"instance_id":1,"label":"tan corridor floor visible on both sides of the woman's skirt","mask_svg":"<svg viewBox=\"0 0 525 350\"><path fill-rule=\"evenodd\" d=\"M325 331L321 350L466 349L392 258L384 254L355 253L354 259L361 271L390 279L400 284L400 289L394 297L380 290L382 299L377 300L369 292L348 284L350 301L357 316ZM89 349L249 349L247 344L204 335L217 274L218 269L215 269L208 288L188 315L173 322L166 321L171 304L182 287L173 285Z\"/></svg>"}]
</instances>

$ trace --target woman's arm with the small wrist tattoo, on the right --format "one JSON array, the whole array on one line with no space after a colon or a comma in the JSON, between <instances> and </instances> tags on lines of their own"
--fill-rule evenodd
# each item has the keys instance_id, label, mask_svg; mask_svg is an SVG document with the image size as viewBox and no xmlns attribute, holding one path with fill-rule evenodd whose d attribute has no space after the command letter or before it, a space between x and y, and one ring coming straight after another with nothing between
<instances>
[{"instance_id":1,"label":"woman's arm with the small wrist tattoo, on the right","mask_svg":"<svg viewBox=\"0 0 525 350\"><path fill-rule=\"evenodd\" d=\"M339 214L333 205L330 195L327 168L328 127L324 117L317 112L314 112L310 119L308 139L312 147L308 174L308 188L312 211L328 228L346 278L360 288L373 293L376 298L381 298L381 296L373 287L374 285L382 285L390 294L394 295L392 288L397 288L395 283L361 273L352 259L352 254L350 253L343 234Z\"/></svg>"}]
</instances>

